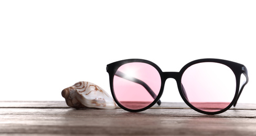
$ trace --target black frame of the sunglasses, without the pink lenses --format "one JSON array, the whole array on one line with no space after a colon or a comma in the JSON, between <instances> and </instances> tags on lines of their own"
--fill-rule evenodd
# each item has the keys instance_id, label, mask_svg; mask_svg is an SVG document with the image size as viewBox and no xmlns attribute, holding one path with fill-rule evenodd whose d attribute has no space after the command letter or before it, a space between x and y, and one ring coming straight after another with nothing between
<instances>
[{"instance_id":1,"label":"black frame of the sunglasses, without the pink lenses","mask_svg":"<svg viewBox=\"0 0 256 136\"><path fill-rule=\"evenodd\" d=\"M153 67L155 67L155 69L158 71L159 75L161 76L161 88L160 88L159 94L157 95L155 100L150 105L148 105L147 107L142 108L142 109L134 110L134 109L129 109L129 108L126 108L126 107L122 106L119 103L119 101L116 99L115 94L114 94L113 79L114 79L116 71L119 69L119 67L121 65L126 64L126 63L131 63L131 62L142 62L142 63L150 64ZM186 94L183 93L182 83L181 83L183 73L186 71L186 69L189 66L197 64L197 63L202 63L202 62L215 62L215 63L220 63L220 64L223 64L223 65L226 65L233 71L234 75L236 76L236 85L237 85L236 86L236 93L235 93L234 98L231 101L231 103L225 109L222 109L220 111L215 111L215 112L207 112L207 111L200 110L200 109L194 107L193 105L191 105L189 103L189 101L187 100L187 98L186 98ZM121 60L121 61L117 61L117 62L113 62L111 64L108 64L106 66L106 71L109 73L110 89L111 89L111 94L112 94L112 96L115 100L115 103L119 107L121 107L122 109L127 110L127 111L131 111L131 112L140 112L140 111L146 110L146 109L152 107L153 105L155 105L156 103L158 105L160 105L161 101L159 101L159 99L161 98L161 96L164 92L164 85L165 85L166 80L168 78L174 78L177 82L177 86L178 86L180 96L182 97L184 102L190 108L192 108L192 109L194 109L194 110L196 110L196 111L198 111L202 114L208 114L208 115L220 114L220 113L225 112L226 110L228 110L232 105L236 106L237 101L238 101L238 99L239 99L239 97L242 93L242 90L243 90L244 86L249 81L248 71L247 71L246 66L244 66L242 64L239 64L239 63L236 63L236 62L221 60L221 59L199 59L199 60L195 60L195 61L187 63L185 66L182 67L182 69L179 72L163 72L155 63L153 63L151 61L147 61L147 60L143 60L143 59L127 59L127 60ZM244 76L246 77L246 82L244 82L240 87L241 74L244 74Z\"/></svg>"}]
</instances>

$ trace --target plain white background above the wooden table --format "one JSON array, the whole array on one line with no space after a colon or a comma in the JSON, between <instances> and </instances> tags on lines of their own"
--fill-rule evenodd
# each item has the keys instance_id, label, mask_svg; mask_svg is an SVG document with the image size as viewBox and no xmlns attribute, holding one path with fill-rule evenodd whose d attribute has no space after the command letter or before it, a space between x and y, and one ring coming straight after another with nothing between
<instances>
[{"instance_id":1,"label":"plain white background above the wooden table","mask_svg":"<svg viewBox=\"0 0 256 136\"><path fill-rule=\"evenodd\" d=\"M0 100L64 100L106 64L140 58L163 71L218 58L247 66L238 103L256 103L255 1L0 1ZM183 101L175 80L162 101Z\"/></svg>"}]
</instances>

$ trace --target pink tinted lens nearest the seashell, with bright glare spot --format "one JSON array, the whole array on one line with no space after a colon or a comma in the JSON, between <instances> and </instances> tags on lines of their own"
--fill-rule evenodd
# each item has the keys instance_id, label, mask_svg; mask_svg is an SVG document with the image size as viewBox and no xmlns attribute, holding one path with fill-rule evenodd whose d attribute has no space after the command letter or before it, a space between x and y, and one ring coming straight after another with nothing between
<instances>
[{"instance_id":1,"label":"pink tinted lens nearest the seashell, with bright glare spot","mask_svg":"<svg viewBox=\"0 0 256 136\"><path fill-rule=\"evenodd\" d=\"M150 105L159 94L161 77L150 64L127 63L119 67L113 80L115 98L129 109Z\"/></svg>"}]
</instances>

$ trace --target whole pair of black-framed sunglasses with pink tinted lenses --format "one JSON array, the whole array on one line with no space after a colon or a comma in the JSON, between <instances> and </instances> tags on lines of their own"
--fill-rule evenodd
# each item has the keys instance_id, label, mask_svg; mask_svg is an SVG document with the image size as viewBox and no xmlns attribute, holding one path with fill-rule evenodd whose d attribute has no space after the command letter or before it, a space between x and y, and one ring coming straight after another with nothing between
<instances>
[{"instance_id":1,"label":"whole pair of black-framed sunglasses with pink tinted lenses","mask_svg":"<svg viewBox=\"0 0 256 136\"><path fill-rule=\"evenodd\" d=\"M174 78L190 108L202 114L220 114L236 106L249 80L246 66L220 59L195 60L179 72L162 72L151 61L128 59L108 64L106 71L115 103L131 112L161 105L165 81ZM246 80L240 85L241 74Z\"/></svg>"}]
</instances>

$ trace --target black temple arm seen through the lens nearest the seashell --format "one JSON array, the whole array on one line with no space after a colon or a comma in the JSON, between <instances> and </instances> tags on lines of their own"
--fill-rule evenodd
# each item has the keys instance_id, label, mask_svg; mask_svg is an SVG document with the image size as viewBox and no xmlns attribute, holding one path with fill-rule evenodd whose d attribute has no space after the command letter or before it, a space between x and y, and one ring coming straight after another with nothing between
<instances>
[{"instance_id":1,"label":"black temple arm seen through the lens nearest the seashell","mask_svg":"<svg viewBox=\"0 0 256 136\"><path fill-rule=\"evenodd\" d=\"M150 86L148 86L145 82L135 78L135 77L132 77L132 76L129 76L129 75L126 75L124 74L123 72L121 71L116 71L115 72L115 75L118 76L118 77L121 77L121 78L124 78L125 80L128 80L128 81L132 81L134 83L137 83L137 84L140 84L142 85L148 93L150 93L150 95L155 99L157 97L157 95L153 92L153 90L150 88ZM161 100L158 100L157 101L157 104L158 105L161 105Z\"/></svg>"}]
</instances>

